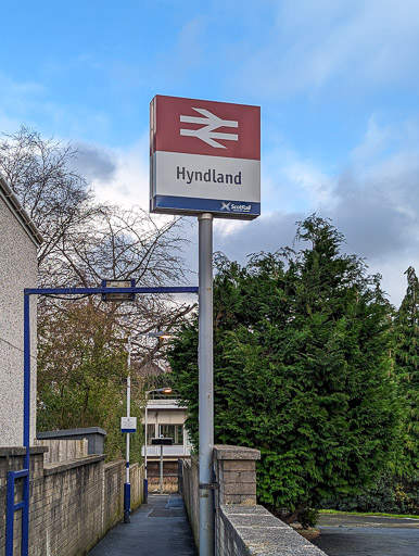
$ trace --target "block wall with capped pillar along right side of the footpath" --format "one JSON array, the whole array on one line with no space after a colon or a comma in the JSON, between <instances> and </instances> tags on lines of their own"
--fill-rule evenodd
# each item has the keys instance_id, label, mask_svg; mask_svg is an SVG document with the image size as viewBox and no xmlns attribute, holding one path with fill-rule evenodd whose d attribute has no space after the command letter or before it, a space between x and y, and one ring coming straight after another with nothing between
<instances>
[{"instance_id":1,"label":"block wall with capped pillar along right side of the footpath","mask_svg":"<svg viewBox=\"0 0 419 556\"><path fill-rule=\"evenodd\" d=\"M256 504L257 450L214 446L215 543L218 556L326 556ZM183 496L199 545L198 464L183 463Z\"/></svg>"}]
</instances>

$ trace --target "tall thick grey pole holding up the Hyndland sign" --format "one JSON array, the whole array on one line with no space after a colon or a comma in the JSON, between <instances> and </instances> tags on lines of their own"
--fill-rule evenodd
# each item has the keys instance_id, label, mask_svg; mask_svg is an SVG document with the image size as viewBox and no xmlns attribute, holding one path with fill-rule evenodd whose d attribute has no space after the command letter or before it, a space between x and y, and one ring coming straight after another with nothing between
<instances>
[{"instance_id":1,"label":"tall thick grey pole holding up the Hyndland sign","mask_svg":"<svg viewBox=\"0 0 419 556\"><path fill-rule=\"evenodd\" d=\"M199 222L200 556L214 556L213 215Z\"/></svg>"}]
</instances>

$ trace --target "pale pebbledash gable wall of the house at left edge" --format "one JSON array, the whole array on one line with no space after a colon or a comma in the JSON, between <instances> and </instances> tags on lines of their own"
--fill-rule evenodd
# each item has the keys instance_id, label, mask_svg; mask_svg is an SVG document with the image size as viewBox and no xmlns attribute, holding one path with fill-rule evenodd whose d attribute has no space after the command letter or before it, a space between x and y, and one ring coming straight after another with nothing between
<instances>
[{"instance_id":1,"label":"pale pebbledash gable wall of the house at left edge","mask_svg":"<svg viewBox=\"0 0 419 556\"><path fill-rule=\"evenodd\" d=\"M0 446L23 445L23 290L37 287L37 248L0 197ZM35 439L35 298L30 311L30 439Z\"/></svg>"}]
</instances>

